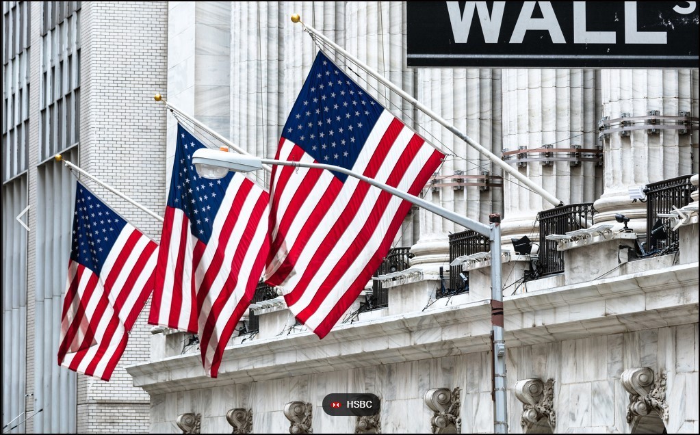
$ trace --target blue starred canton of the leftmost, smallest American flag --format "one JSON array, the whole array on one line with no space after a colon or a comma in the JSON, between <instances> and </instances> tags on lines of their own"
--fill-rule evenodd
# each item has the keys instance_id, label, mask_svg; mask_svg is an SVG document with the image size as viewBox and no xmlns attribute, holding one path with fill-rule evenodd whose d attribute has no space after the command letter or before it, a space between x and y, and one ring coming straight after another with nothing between
<instances>
[{"instance_id":1,"label":"blue starred canton of the leftmost, smallest American flag","mask_svg":"<svg viewBox=\"0 0 700 435\"><path fill-rule=\"evenodd\" d=\"M73 215L71 260L99 275L122 229L122 217L78 181Z\"/></svg>"}]
</instances>

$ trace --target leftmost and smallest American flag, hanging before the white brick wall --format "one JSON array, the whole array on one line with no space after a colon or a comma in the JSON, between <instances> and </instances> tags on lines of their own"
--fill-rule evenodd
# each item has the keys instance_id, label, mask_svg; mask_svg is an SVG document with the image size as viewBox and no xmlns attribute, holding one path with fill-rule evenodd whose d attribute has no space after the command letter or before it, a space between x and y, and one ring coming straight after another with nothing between
<instances>
[{"instance_id":1,"label":"leftmost and smallest American flag, hanging before the white brick wall","mask_svg":"<svg viewBox=\"0 0 700 435\"><path fill-rule=\"evenodd\" d=\"M158 244L77 182L58 364L109 380L153 291Z\"/></svg>"}]
</instances>

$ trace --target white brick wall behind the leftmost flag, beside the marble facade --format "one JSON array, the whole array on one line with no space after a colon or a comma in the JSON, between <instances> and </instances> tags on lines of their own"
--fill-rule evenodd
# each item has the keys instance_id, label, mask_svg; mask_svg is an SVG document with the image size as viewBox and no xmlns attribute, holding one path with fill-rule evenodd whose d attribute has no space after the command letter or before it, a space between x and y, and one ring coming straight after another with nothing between
<instances>
[{"instance_id":1,"label":"white brick wall behind the leftmost flag, beside the marble facade","mask_svg":"<svg viewBox=\"0 0 700 435\"><path fill-rule=\"evenodd\" d=\"M162 215L166 110L153 101L167 74L167 2L86 2L82 10L81 166ZM161 224L104 189L110 206L155 241ZM148 394L124 369L148 360L148 306L109 383L79 376L78 432L148 432Z\"/></svg>"}]
</instances>

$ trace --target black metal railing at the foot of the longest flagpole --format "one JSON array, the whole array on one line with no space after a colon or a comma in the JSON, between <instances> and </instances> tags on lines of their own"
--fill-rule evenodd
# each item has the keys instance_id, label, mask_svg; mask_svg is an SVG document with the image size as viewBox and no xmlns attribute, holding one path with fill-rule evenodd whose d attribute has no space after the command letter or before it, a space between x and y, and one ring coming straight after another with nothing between
<instances>
[{"instance_id":1,"label":"black metal railing at the foot of the longest flagpole","mask_svg":"<svg viewBox=\"0 0 700 435\"><path fill-rule=\"evenodd\" d=\"M592 203L570 204L538 213L540 221L538 276L564 271L563 252L557 251L556 241L547 240L547 236L591 227L593 215L596 213Z\"/></svg>"}]
</instances>

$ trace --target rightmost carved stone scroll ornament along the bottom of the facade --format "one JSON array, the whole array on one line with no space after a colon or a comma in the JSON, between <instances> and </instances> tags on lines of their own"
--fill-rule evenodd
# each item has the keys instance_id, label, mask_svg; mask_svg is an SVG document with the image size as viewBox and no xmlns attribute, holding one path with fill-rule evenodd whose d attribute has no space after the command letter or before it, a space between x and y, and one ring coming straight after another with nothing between
<instances>
[{"instance_id":1,"label":"rightmost carved stone scroll ornament along the bottom of the facade","mask_svg":"<svg viewBox=\"0 0 700 435\"><path fill-rule=\"evenodd\" d=\"M649 367L625 370L620 377L622 386L629 392L627 422L635 417L644 417L656 411L659 417L668 422L666 405L666 374L654 376Z\"/></svg>"}]
</instances>

